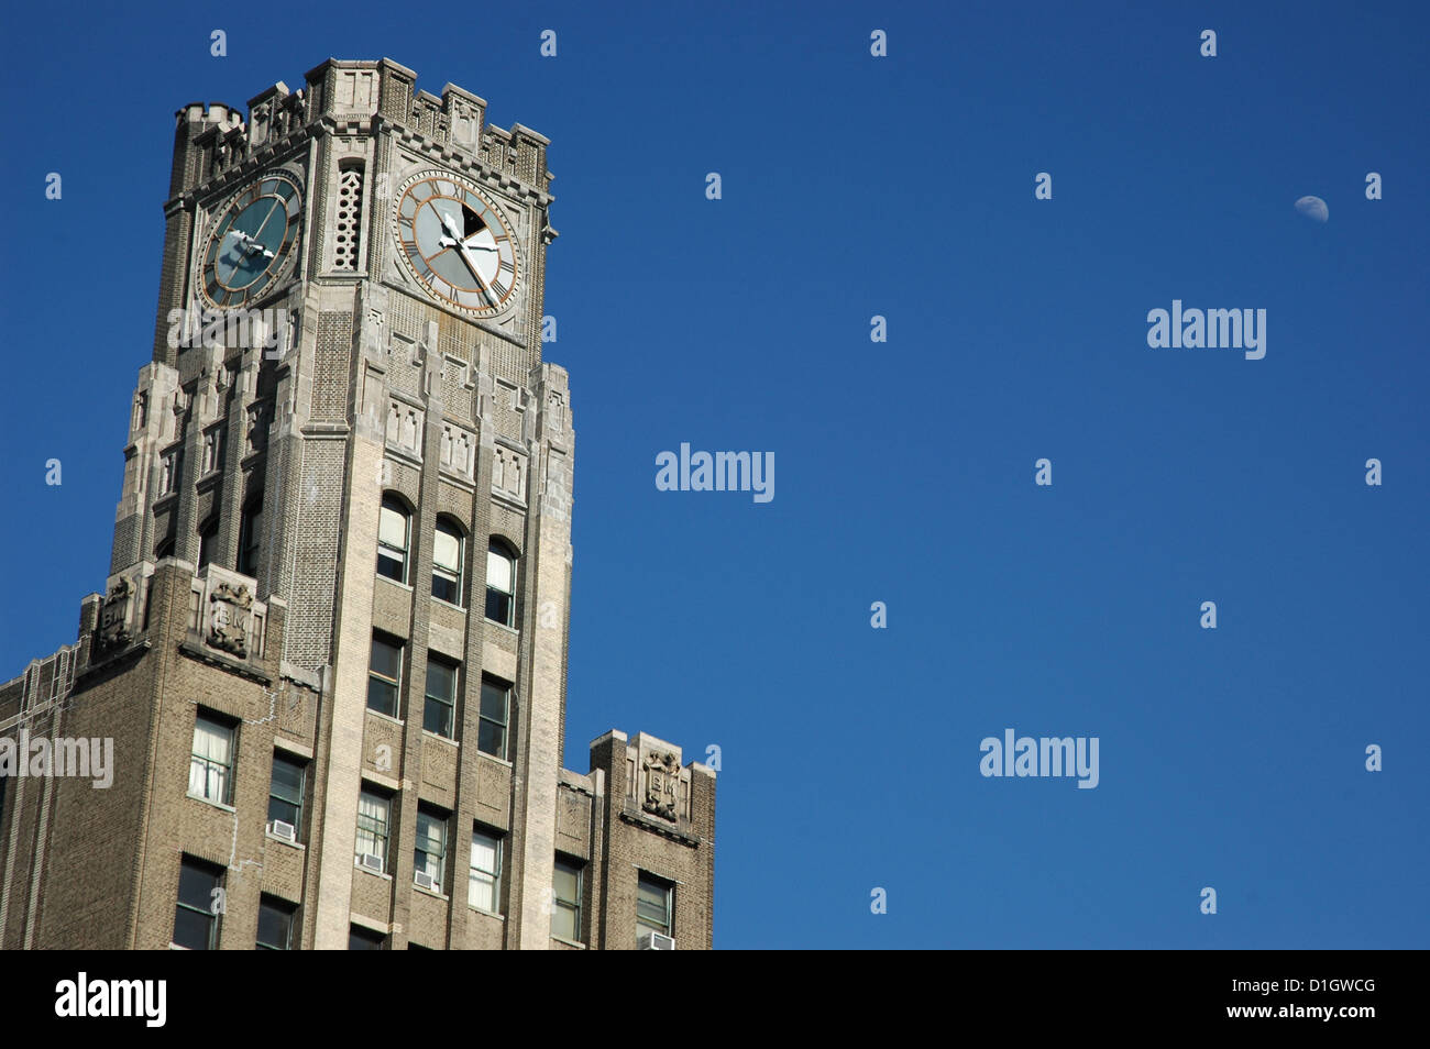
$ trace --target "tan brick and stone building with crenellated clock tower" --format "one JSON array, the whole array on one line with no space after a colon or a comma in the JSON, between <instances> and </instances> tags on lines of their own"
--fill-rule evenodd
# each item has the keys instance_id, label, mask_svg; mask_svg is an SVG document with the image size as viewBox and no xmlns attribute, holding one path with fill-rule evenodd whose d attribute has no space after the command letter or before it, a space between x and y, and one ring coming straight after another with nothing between
<instances>
[{"instance_id":1,"label":"tan brick and stone building with crenellated clock tower","mask_svg":"<svg viewBox=\"0 0 1430 1049\"><path fill-rule=\"evenodd\" d=\"M106 590L0 686L0 948L711 946L714 772L562 769L548 140L415 80L177 114Z\"/></svg>"}]
</instances>

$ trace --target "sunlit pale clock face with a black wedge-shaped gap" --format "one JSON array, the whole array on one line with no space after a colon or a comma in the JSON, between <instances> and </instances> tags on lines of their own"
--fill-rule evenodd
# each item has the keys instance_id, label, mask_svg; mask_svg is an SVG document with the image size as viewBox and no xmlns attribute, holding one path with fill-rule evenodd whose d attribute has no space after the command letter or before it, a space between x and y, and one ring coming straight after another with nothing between
<instances>
[{"instance_id":1,"label":"sunlit pale clock face with a black wedge-shaped gap","mask_svg":"<svg viewBox=\"0 0 1430 1049\"><path fill-rule=\"evenodd\" d=\"M392 213L402 260L433 296L479 317L515 302L516 240L472 183L423 171L403 183Z\"/></svg>"}]
</instances>

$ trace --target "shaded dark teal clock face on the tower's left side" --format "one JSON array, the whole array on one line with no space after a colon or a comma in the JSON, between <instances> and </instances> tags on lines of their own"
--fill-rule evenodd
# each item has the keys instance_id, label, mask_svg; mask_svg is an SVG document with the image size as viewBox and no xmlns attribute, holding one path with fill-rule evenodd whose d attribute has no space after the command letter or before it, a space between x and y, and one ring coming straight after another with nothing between
<instances>
[{"instance_id":1,"label":"shaded dark teal clock face on the tower's left side","mask_svg":"<svg viewBox=\"0 0 1430 1049\"><path fill-rule=\"evenodd\" d=\"M204 299L232 309L273 287L293 260L302 224L302 194L286 174L242 190L214 216L199 272Z\"/></svg>"}]
</instances>

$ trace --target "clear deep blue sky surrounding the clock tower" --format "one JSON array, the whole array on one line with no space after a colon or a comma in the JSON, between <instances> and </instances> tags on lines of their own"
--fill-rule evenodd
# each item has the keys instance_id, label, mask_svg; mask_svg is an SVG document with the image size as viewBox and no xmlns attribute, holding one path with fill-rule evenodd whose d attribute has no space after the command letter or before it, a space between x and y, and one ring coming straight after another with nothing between
<instances>
[{"instance_id":1,"label":"clear deep blue sky surrounding the clock tower","mask_svg":"<svg viewBox=\"0 0 1430 1049\"><path fill-rule=\"evenodd\" d=\"M1430 946L1424 4L317 7L3 16L0 676L103 586L173 111L389 56L552 140L566 762L721 747L718 946ZM1148 349L1173 299L1266 359ZM1098 787L982 777L1007 727Z\"/></svg>"}]
</instances>

